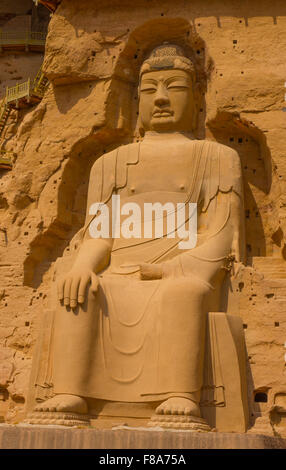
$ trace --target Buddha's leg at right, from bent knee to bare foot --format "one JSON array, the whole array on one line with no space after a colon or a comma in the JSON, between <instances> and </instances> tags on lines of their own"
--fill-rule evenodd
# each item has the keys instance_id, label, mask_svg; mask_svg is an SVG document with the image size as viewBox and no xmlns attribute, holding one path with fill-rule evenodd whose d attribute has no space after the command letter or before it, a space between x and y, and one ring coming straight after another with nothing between
<instances>
[{"instance_id":1,"label":"Buddha's leg at right, from bent knee to bare foot","mask_svg":"<svg viewBox=\"0 0 286 470\"><path fill-rule=\"evenodd\" d=\"M209 288L194 277L162 282L158 390L168 399L156 413L200 416Z\"/></svg>"}]
</instances>

